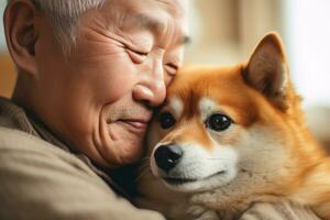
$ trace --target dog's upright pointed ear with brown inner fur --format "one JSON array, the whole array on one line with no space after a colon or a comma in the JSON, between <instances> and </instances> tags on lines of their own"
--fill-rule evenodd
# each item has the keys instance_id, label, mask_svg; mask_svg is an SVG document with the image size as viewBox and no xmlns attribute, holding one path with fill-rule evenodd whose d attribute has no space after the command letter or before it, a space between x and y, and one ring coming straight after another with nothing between
<instances>
[{"instance_id":1,"label":"dog's upright pointed ear with brown inner fur","mask_svg":"<svg viewBox=\"0 0 330 220\"><path fill-rule=\"evenodd\" d=\"M258 43L243 70L248 85L262 92L277 108L286 109L288 68L282 41L270 33Z\"/></svg>"}]
</instances>

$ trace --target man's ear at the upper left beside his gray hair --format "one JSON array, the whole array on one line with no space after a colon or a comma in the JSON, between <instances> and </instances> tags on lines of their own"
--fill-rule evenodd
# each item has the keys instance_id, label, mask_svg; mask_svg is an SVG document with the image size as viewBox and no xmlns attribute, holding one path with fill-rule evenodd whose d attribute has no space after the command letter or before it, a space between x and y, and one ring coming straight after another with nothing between
<instances>
[{"instance_id":1,"label":"man's ear at the upper left beside his gray hair","mask_svg":"<svg viewBox=\"0 0 330 220\"><path fill-rule=\"evenodd\" d=\"M4 11L8 50L20 72L36 75L36 9L30 0L11 0Z\"/></svg>"}]
</instances>

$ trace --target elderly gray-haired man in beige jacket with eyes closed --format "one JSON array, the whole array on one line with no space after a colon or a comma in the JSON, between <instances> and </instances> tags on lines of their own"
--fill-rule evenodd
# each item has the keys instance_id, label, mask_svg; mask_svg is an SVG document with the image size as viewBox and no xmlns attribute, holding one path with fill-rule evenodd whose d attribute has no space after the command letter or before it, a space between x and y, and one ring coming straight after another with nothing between
<instances>
[{"instance_id":1,"label":"elderly gray-haired man in beige jacket with eyes closed","mask_svg":"<svg viewBox=\"0 0 330 220\"><path fill-rule=\"evenodd\" d=\"M12 99L0 99L0 219L163 219L131 205L106 170L143 153L152 110L183 63L186 4L9 0L19 75ZM243 218L278 209L261 207Z\"/></svg>"}]
</instances>

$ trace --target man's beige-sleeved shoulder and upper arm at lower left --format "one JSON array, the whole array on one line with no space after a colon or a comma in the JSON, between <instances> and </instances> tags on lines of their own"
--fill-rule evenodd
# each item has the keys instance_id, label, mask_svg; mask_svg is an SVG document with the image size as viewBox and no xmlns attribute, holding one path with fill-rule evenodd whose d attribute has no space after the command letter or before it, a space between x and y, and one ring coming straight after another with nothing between
<instances>
[{"instance_id":1,"label":"man's beige-sleeved shoulder and upper arm at lower left","mask_svg":"<svg viewBox=\"0 0 330 220\"><path fill-rule=\"evenodd\" d=\"M0 130L0 219L163 220L116 194L75 156Z\"/></svg>"}]
</instances>

